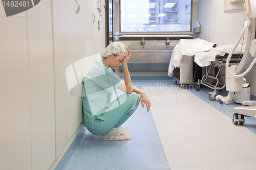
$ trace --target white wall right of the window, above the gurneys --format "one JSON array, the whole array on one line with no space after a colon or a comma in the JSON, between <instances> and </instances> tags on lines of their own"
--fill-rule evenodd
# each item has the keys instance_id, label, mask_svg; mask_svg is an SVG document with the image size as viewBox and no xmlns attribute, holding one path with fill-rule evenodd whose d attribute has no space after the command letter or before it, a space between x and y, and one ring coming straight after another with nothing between
<instances>
[{"instance_id":1,"label":"white wall right of the window, above the gurneys","mask_svg":"<svg viewBox=\"0 0 256 170\"><path fill-rule=\"evenodd\" d=\"M243 30L244 13L226 14L223 9L223 0L198 2L198 20L201 23L198 37L217 46L236 44Z\"/></svg>"}]
</instances>

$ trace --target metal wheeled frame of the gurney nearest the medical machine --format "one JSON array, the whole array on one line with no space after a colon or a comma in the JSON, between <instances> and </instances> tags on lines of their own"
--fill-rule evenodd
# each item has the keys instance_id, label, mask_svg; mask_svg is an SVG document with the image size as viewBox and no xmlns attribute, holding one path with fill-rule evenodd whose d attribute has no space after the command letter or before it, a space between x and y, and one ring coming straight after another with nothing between
<instances>
[{"instance_id":1,"label":"metal wheeled frame of the gurney nearest the medical machine","mask_svg":"<svg viewBox=\"0 0 256 170\"><path fill-rule=\"evenodd\" d=\"M222 90L226 86L225 74L222 73L222 67L226 65L226 60L229 54L225 54L224 56L217 55L215 56L215 61L211 61L209 69L206 66L206 75L202 77L202 80L198 80L198 84L196 85L196 90L200 90L200 84L205 85L211 89L214 89L214 92L209 93L209 99L211 101L216 100L217 90ZM238 65L243 57L243 54L234 54L229 62L229 65ZM213 74L210 74L210 70L213 69ZM216 72L217 69L217 72ZM213 79L216 83L209 83L209 79Z\"/></svg>"}]
</instances>

